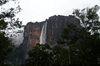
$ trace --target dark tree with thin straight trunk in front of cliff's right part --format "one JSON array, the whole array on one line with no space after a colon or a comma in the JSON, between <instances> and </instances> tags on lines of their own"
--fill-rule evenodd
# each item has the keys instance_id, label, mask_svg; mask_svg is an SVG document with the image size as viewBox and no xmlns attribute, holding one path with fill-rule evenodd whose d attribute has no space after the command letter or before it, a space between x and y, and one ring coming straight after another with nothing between
<instances>
[{"instance_id":1,"label":"dark tree with thin straight trunk in front of cliff's right part","mask_svg":"<svg viewBox=\"0 0 100 66\"><path fill-rule=\"evenodd\" d=\"M70 45L78 40L78 29L79 28L76 25L68 24L61 34L62 40L57 42L58 44L65 44L66 48L68 49L69 64L71 64Z\"/></svg>"}]
</instances>

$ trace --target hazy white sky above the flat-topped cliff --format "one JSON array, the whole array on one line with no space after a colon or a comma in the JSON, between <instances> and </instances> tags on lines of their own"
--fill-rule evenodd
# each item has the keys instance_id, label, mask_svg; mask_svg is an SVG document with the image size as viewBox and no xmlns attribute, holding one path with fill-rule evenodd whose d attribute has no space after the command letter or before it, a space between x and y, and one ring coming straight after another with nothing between
<instances>
[{"instance_id":1,"label":"hazy white sky above the flat-topped cliff","mask_svg":"<svg viewBox=\"0 0 100 66\"><path fill-rule=\"evenodd\" d=\"M26 24L44 21L53 15L71 15L74 9L100 6L100 0L19 0L23 9L17 17ZM100 14L100 11L99 11Z\"/></svg>"}]
</instances>

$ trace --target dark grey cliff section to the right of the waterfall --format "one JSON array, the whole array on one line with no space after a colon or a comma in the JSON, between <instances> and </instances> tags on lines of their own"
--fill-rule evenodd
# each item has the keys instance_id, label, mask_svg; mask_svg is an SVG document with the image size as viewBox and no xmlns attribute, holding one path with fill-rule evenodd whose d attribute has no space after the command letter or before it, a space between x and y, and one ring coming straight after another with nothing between
<instances>
[{"instance_id":1,"label":"dark grey cliff section to the right of the waterfall","mask_svg":"<svg viewBox=\"0 0 100 66\"><path fill-rule=\"evenodd\" d=\"M61 39L62 30L68 23L77 25L77 19L73 16L52 16L48 20L47 25L47 43L57 44L56 42Z\"/></svg>"}]
</instances>

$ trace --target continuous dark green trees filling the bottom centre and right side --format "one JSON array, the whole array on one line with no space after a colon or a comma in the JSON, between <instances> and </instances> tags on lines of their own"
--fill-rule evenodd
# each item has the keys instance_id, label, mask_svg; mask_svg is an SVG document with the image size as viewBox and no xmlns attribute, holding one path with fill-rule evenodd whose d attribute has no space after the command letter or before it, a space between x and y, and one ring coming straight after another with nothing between
<instances>
[{"instance_id":1,"label":"continuous dark green trees filling the bottom centre and right side","mask_svg":"<svg viewBox=\"0 0 100 66\"><path fill-rule=\"evenodd\" d=\"M99 6L76 9L79 25L68 24L58 45L37 44L29 52L26 66L100 65ZM59 45L62 44L62 45Z\"/></svg>"}]
</instances>

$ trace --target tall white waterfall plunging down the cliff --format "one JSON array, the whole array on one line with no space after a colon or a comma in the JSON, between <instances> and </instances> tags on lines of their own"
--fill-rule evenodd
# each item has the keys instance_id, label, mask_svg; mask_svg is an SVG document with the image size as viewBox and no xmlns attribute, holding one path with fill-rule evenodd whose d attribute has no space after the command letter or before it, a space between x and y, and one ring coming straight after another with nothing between
<instances>
[{"instance_id":1,"label":"tall white waterfall plunging down the cliff","mask_svg":"<svg viewBox=\"0 0 100 66\"><path fill-rule=\"evenodd\" d=\"M46 29L47 29L47 22L45 22L44 25L42 26L42 31L40 35L40 44L46 43Z\"/></svg>"}]
</instances>

